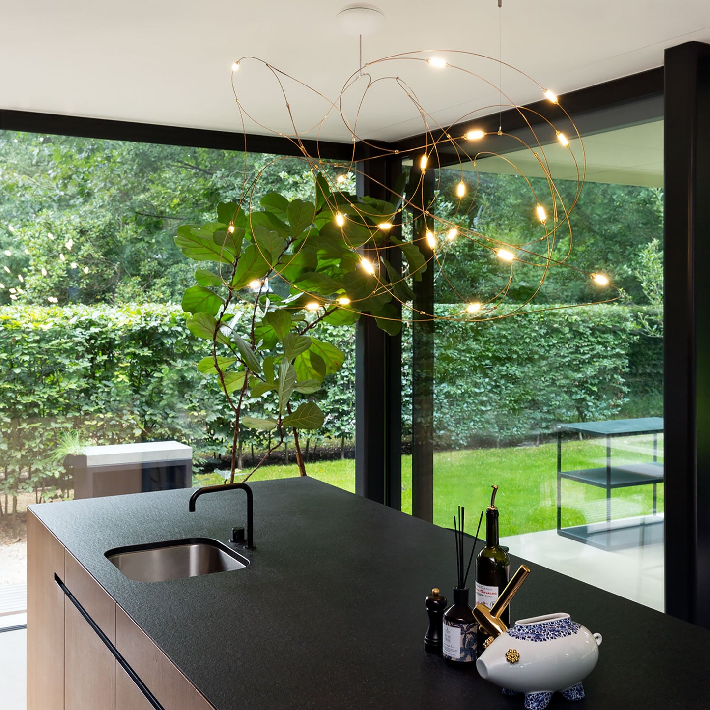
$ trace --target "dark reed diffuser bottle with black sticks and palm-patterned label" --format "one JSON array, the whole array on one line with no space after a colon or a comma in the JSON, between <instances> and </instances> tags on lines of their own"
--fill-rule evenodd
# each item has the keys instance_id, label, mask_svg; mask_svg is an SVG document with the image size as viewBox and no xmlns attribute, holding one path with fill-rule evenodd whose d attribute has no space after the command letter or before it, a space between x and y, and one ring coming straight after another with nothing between
<instances>
[{"instance_id":1,"label":"dark reed diffuser bottle with black sticks and palm-patterned label","mask_svg":"<svg viewBox=\"0 0 710 710\"><path fill-rule=\"evenodd\" d=\"M456 538L456 562L458 585L454 587L454 603L444 611L442 626L442 655L454 665L464 667L464 664L476 660L476 637L479 626L474 619L473 610L469 606L469 588L466 578L469 576L474 548L471 549L469 566L464 574L464 522L466 511L459 506L459 520L454 517L454 535ZM481 513L481 515L483 515ZM480 520L479 520L480 525Z\"/></svg>"}]
</instances>

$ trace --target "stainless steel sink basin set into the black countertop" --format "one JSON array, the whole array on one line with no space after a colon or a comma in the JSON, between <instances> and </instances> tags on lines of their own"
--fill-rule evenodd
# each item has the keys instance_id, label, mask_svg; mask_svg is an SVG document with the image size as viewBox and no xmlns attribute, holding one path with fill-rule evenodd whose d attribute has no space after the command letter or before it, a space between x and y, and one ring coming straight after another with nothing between
<instances>
[{"instance_id":1,"label":"stainless steel sink basin set into the black countertop","mask_svg":"<svg viewBox=\"0 0 710 710\"><path fill-rule=\"evenodd\" d=\"M199 577L244 569L249 564L249 559L209 537L116 547L105 555L126 577L135 581Z\"/></svg>"}]
</instances>

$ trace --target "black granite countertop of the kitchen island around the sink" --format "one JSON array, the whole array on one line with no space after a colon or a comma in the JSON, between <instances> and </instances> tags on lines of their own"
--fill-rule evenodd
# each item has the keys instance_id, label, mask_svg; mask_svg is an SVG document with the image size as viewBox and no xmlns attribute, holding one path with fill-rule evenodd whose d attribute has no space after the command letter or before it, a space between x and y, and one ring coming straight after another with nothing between
<instances>
[{"instance_id":1,"label":"black granite countertop of the kitchen island around the sink","mask_svg":"<svg viewBox=\"0 0 710 710\"><path fill-rule=\"evenodd\" d=\"M219 710L506 709L475 667L423 650L424 598L455 584L453 533L314 479L252 484L249 567L155 583L124 577L104 552L182 537L226 541L246 522L244 491L189 490L33 506L33 513ZM515 552L514 550L512 552ZM520 562L511 556L511 570ZM586 698L550 710L709 706L709 634L529 564L511 618L566 611L603 635Z\"/></svg>"}]
</instances>

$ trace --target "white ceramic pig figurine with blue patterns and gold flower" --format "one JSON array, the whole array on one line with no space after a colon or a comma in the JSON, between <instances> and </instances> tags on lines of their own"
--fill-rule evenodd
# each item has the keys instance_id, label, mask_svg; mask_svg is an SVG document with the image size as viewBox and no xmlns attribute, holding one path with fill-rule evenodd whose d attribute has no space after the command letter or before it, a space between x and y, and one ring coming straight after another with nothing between
<instances>
[{"instance_id":1,"label":"white ceramic pig figurine with blue patterns and gold flower","mask_svg":"<svg viewBox=\"0 0 710 710\"><path fill-rule=\"evenodd\" d=\"M506 694L525 693L525 708L547 707L552 693L568 700L584 697L581 681L599 657L601 634L557 613L515 622L476 661L481 677Z\"/></svg>"}]
</instances>

